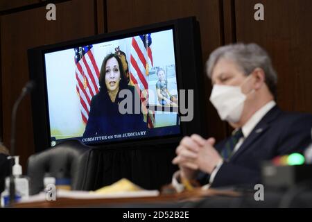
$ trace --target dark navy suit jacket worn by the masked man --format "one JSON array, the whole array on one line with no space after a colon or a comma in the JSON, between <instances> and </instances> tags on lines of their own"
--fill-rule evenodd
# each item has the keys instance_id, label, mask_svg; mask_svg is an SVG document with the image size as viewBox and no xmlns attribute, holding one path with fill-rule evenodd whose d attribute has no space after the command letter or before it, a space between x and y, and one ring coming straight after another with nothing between
<instances>
[{"instance_id":1,"label":"dark navy suit jacket worn by the masked man","mask_svg":"<svg viewBox=\"0 0 312 222\"><path fill-rule=\"evenodd\" d=\"M245 138L238 151L220 167L212 187L232 185L254 185L260 182L260 165L278 155L304 151L311 143L312 115L283 112L272 108L250 135ZM220 152L227 140L216 144ZM200 173L202 184L209 182L209 174Z\"/></svg>"}]
</instances>

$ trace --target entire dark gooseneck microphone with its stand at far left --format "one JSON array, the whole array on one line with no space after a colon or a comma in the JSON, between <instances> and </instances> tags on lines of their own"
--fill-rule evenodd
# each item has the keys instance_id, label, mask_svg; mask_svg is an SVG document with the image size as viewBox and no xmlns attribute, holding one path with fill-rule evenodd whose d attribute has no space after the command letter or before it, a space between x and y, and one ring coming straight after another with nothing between
<instances>
[{"instance_id":1,"label":"entire dark gooseneck microphone with its stand at far left","mask_svg":"<svg viewBox=\"0 0 312 222\"><path fill-rule=\"evenodd\" d=\"M12 205L15 202L15 180L14 175L12 171L12 166L14 164L15 159L13 158L15 155L15 133L16 133L16 115L17 115L17 108L19 108L19 104L24 99L24 97L31 92L31 90L35 87L35 82L33 80L26 83L25 87L21 89L21 94L19 95L19 98L17 98L17 101L15 101L12 109L12 119L11 119L11 148L10 148L10 157L8 159L11 159L11 167L10 167L10 198L9 202L10 205ZM13 164L12 164L13 163Z\"/></svg>"}]
</instances>

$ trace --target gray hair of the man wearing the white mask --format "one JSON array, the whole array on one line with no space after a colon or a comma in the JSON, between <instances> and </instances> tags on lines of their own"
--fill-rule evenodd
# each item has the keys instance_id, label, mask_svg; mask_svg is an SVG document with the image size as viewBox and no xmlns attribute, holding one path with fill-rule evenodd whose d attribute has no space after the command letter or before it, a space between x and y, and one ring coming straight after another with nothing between
<instances>
[{"instance_id":1,"label":"gray hair of the man wearing the white mask","mask_svg":"<svg viewBox=\"0 0 312 222\"><path fill-rule=\"evenodd\" d=\"M250 75L256 68L263 69L264 74L266 74L266 85L268 85L270 92L276 96L277 73L272 67L270 56L259 45L237 43L221 46L214 50L206 63L209 78L211 78L214 66L220 58L235 62L246 76Z\"/></svg>"}]
</instances>

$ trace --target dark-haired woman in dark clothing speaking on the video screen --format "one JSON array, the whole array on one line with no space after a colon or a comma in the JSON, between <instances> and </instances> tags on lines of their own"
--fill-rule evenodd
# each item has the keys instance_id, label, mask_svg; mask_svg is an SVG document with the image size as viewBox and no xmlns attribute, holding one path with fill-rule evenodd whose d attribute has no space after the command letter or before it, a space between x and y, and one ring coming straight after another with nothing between
<instances>
[{"instance_id":1,"label":"dark-haired woman in dark clothing speaking on the video screen","mask_svg":"<svg viewBox=\"0 0 312 222\"><path fill-rule=\"evenodd\" d=\"M104 58L99 85L100 91L92 97L83 137L116 135L147 129L141 109L137 109L140 111L135 114L135 104L138 105L135 103L135 98L139 96L135 96L137 93L135 87L128 85L123 65L116 53L110 53ZM132 94L132 113L119 112L119 103L127 98L127 95L125 98L119 98L122 89L128 89Z\"/></svg>"}]
</instances>

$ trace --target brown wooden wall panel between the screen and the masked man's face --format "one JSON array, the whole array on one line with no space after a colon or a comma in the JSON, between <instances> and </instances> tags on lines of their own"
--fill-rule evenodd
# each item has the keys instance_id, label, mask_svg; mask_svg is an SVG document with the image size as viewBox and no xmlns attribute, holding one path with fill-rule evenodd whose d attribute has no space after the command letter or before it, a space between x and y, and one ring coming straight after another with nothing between
<instances>
[{"instance_id":1,"label":"brown wooden wall panel between the screen and the masked man's face","mask_svg":"<svg viewBox=\"0 0 312 222\"><path fill-rule=\"evenodd\" d=\"M107 0L107 31L164 22L180 17L196 16L200 23L203 65L209 53L223 44L220 28L220 1L218 0ZM204 67L205 69L205 67ZM216 139L226 134L225 123L218 118L216 110L209 102L211 82L206 80L206 102L208 105L208 133Z\"/></svg>"}]
</instances>

